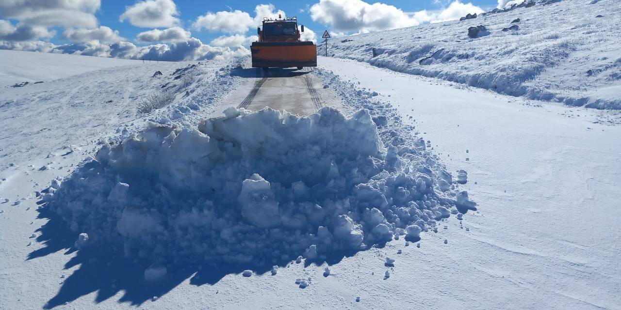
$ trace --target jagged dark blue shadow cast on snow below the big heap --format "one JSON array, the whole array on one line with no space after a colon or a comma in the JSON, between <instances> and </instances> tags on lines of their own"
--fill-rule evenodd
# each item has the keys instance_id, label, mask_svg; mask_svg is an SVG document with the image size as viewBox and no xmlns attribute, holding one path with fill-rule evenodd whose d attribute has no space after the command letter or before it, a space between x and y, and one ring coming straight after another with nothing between
<instances>
[{"instance_id":1,"label":"jagged dark blue shadow cast on snow below the big heap","mask_svg":"<svg viewBox=\"0 0 621 310\"><path fill-rule=\"evenodd\" d=\"M63 269L68 270L79 265L71 275L66 277L61 283L60 290L53 296L44 309L52 309L65 303L75 301L81 296L97 292L96 303L101 303L106 299L115 296L119 291L124 291L119 303L130 303L138 306L153 296L161 297L176 286L189 278L191 285L215 285L226 275L240 274L243 270L253 270L253 275L270 275L273 265L286 267L293 263L296 257L288 260L280 260L275 264L256 265L234 265L225 262L211 262L206 264L183 265L183 267L168 267L165 280L150 283L144 280L144 270L149 267L150 261L127 259L123 255L122 249L107 247L86 247L76 250L73 243L76 239L75 232L71 232L60 216L55 215L45 207L39 208L38 218L47 218L48 222L37 229L40 236L37 241L45 245L42 249L30 252L27 260L37 259L59 251L63 254L75 256L65 263ZM314 262L304 262L305 266L315 263L321 265L326 262L333 265L340 262L345 257L350 257L356 251L333 253L325 260ZM242 275L239 275L242 277Z\"/></svg>"}]
</instances>

